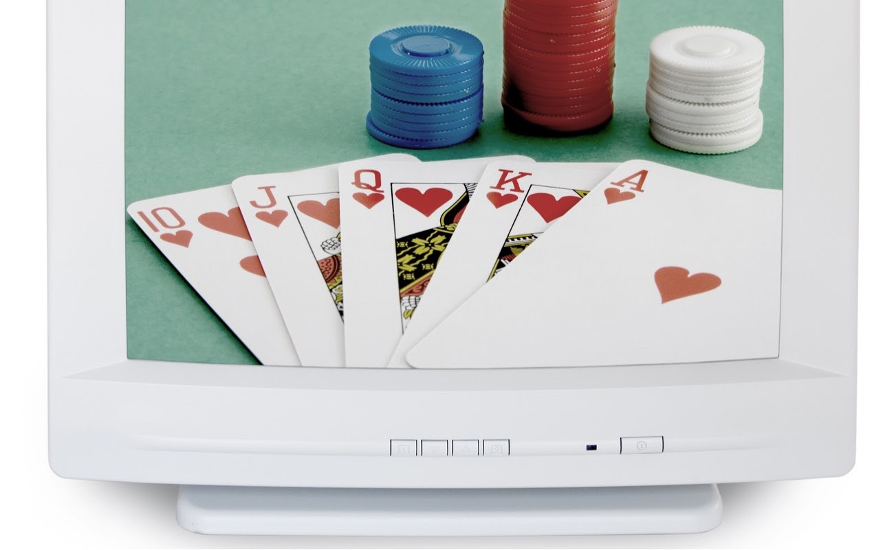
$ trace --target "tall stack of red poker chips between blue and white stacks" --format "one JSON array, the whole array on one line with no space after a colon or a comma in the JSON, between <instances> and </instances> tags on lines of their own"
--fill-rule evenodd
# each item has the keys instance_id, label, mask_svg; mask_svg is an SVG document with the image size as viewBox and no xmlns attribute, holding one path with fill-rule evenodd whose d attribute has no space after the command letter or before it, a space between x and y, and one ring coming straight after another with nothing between
<instances>
[{"instance_id":1,"label":"tall stack of red poker chips between blue and white stacks","mask_svg":"<svg viewBox=\"0 0 894 550\"><path fill-rule=\"evenodd\" d=\"M617 12L618 0L506 0L507 125L580 132L611 118Z\"/></svg>"}]
</instances>

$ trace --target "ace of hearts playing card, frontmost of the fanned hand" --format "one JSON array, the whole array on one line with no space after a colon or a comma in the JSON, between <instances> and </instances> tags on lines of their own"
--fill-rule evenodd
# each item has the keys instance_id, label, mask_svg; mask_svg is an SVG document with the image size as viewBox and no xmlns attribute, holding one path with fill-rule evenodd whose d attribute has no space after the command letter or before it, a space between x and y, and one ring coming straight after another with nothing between
<instances>
[{"instance_id":1,"label":"ace of hearts playing card, frontmost of the fanned hand","mask_svg":"<svg viewBox=\"0 0 894 550\"><path fill-rule=\"evenodd\" d=\"M782 193L636 160L407 354L420 368L779 354Z\"/></svg>"}]
</instances>

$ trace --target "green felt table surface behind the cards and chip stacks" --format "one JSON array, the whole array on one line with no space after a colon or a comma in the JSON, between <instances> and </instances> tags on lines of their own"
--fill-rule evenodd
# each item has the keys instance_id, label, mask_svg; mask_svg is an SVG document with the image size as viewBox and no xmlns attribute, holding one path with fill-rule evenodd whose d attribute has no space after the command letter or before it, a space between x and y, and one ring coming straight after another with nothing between
<instances>
[{"instance_id":1,"label":"green felt table surface behind the cards and chip stacks","mask_svg":"<svg viewBox=\"0 0 894 550\"><path fill-rule=\"evenodd\" d=\"M527 155L540 161L645 158L733 182L782 186L781 0L620 0L611 123L590 135L531 137L504 127L502 1L127 0L126 202L274 173L401 152L373 140L369 40L437 24L485 45L485 122L422 160ZM720 25L766 47L763 139L723 156L664 148L648 134L649 43L664 30ZM124 214L122 205L122 216ZM257 364L188 283L125 220L127 340L132 359Z\"/></svg>"}]
</instances>

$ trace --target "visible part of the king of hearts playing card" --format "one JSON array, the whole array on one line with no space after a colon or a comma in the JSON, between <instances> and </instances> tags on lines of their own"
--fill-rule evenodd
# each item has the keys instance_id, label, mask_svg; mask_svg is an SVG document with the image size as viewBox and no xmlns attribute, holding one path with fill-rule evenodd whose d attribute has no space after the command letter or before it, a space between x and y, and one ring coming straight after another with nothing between
<instances>
[{"instance_id":1,"label":"visible part of the king of hearts playing card","mask_svg":"<svg viewBox=\"0 0 894 550\"><path fill-rule=\"evenodd\" d=\"M488 165L389 367L602 182L617 163Z\"/></svg>"}]
</instances>

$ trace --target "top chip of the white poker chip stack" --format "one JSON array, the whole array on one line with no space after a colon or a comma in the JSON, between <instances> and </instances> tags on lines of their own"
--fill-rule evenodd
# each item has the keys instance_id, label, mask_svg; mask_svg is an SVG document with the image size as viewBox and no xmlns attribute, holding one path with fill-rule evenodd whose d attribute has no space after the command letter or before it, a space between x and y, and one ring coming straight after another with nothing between
<instances>
[{"instance_id":1,"label":"top chip of the white poker chip stack","mask_svg":"<svg viewBox=\"0 0 894 550\"><path fill-rule=\"evenodd\" d=\"M763 66L763 42L725 27L681 27L662 32L649 47L652 63L693 75L734 75Z\"/></svg>"}]
</instances>

